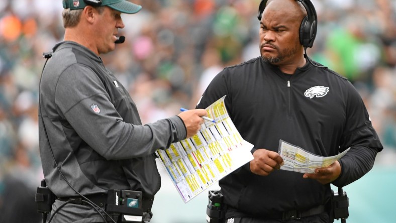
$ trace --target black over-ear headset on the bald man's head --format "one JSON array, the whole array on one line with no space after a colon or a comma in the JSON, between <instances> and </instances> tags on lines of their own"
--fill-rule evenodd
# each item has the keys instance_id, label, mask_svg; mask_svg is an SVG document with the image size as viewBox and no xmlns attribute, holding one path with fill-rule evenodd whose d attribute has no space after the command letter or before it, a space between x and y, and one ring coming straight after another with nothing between
<instances>
[{"instance_id":1,"label":"black over-ear headset on the bald man's head","mask_svg":"<svg viewBox=\"0 0 396 223\"><path fill-rule=\"evenodd\" d=\"M318 16L316 15L314 4L312 4L311 0L296 1L303 4L305 10L307 11L307 16L303 19L300 25L300 43L304 46L304 48L312 47L314 45L314 40L316 37L318 21ZM258 7L257 19L259 21L261 21L261 17L263 15L267 2L267 0L262 0L260 6Z\"/></svg>"}]
</instances>

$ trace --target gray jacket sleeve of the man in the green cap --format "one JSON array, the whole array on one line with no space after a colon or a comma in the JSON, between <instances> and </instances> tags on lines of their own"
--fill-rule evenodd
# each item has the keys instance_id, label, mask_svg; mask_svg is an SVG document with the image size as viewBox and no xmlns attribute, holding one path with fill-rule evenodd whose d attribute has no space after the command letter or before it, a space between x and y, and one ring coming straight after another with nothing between
<instances>
[{"instance_id":1,"label":"gray jacket sleeve of the man in the green cap","mask_svg":"<svg viewBox=\"0 0 396 223\"><path fill-rule=\"evenodd\" d=\"M56 84L55 103L64 128L74 129L108 160L147 156L186 137L177 116L147 125L124 122L102 81L82 65L73 65L62 73Z\"/></svg>"}]
</instances>

